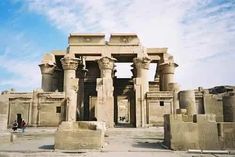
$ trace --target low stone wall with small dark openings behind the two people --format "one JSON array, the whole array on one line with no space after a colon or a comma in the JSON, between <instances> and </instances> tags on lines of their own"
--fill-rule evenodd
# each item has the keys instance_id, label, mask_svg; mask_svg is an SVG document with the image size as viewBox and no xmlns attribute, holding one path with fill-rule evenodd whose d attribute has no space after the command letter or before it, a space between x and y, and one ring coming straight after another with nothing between
<instances>
[{"instance_id":1,"label":"low stone wall with small dark openings behind the two people","mask_svg":"<svg viewBox=\"0 0 235 157\"><path fill-rule=\"evenodd\" d=\"M28 126L58 126L65 117L62 92L9 93L5 102L9 104L9 127L17 117Z\"/></svg>"}]
</instances>

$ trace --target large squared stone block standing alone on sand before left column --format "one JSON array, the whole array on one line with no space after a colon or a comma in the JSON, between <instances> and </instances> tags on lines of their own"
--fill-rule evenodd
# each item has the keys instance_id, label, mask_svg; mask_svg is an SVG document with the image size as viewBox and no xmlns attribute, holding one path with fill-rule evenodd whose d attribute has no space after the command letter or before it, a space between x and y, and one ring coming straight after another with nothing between
<instances>
[{"instance_id":1,"label":"large squared stone block standing alone on sand before left column","mask_svg":"<svg viewBox=\"0 0 235 157\"><path fill-rule=\"evenodd\" d=\"M55 133L55 149L85 150L104 146L103 122L62 122Z\"/></svg>"}]
</instances>

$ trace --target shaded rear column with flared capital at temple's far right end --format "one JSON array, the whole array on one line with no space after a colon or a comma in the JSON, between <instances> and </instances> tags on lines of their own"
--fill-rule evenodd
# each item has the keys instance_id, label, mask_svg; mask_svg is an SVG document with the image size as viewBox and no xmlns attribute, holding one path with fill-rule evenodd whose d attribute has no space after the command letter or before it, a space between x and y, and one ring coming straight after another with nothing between
<instances>
[{"instance_id":1,"label":"shaded rear column with flared capital at temple's far right end","mask_svg":"<svg viewBox=\"0 0 235 157\"><path fill-rule=\"evenodd\" d=\"M169 90L168 84L174 82L175 68L178 67L176 63L162 63L159 65L160 72L160 90Z\"/></svg>"}]
</instances>

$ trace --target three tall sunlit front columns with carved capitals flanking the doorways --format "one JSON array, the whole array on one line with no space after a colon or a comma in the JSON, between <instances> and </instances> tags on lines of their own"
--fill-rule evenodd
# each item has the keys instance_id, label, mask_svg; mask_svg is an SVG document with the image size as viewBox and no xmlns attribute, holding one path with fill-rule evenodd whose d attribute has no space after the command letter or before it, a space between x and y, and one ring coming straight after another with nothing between
<instances>
[{"instance_id":1,"label":"three tall sunlit front columns with carved capitals flanking the doorways","mask_svg":"<svg viewBox=\"0 0 235 157\"><path fill-rule=\"evenodd\" d=\"M108 127L114 126L114 98L113 98L113 71L116 59L103 57L98 60L101 77L97 78L97 105L96 118L98 121L105 121ZM77 90L79 80L76 78L76 69L79 60L70 54L61 59L64 69L64 92L67 100L66 120L76 121L77 112ZM148 69L149 58L135 58L136 69L135 92L136 92L136 126L142 126L146 121L146 98L148 91Z\"/></svg>"}]
</instances>

